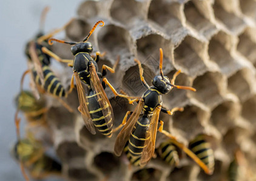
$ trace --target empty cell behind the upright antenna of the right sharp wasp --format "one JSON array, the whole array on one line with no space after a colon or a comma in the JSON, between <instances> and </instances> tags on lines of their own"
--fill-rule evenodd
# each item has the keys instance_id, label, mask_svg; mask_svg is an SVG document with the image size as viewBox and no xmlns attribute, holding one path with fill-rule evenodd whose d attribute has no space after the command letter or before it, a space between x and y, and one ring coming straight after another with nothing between
<instances>
[{"instance_id":1,"label":"empty cell behind the upright antenna of the right sharp wasp","mask_svg":"<svg viewBox=\"0 0 256 181\"><path fill-rule=\"evenodd\" d=\"M136 41L138 60L142 64L147 65L153 72L156 74L159 73L159 59L160 51L163 49L164 59L163 59L163 71L164 74L170 72L170 69L173 69L171 65L172 60L172 45L169 40L164 39L158 34L150 34L148 36L142 37Z\"/></svg>"}]
</instances>

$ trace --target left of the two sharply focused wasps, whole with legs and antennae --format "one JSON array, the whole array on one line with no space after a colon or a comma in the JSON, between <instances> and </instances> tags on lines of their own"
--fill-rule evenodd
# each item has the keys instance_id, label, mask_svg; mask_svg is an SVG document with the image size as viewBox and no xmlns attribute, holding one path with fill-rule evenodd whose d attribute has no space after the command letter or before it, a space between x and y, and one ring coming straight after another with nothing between
<instances>
[{"instance_id":1,"label":"left of the two sharply focused wasps, whole with legs and antennae","mask_svg":"<svg viewBox=\"0 0 256 181\"><path fill-rule=\"evenodd\" d=\"M73 60L62 60L47 48L42 48L42 50L59 62L68 63L69 66L73 67L73 76L69 92L71 92L74 87L73 77L75 77L79 97L78 110L83 116L87 129L90 133L95 134L96 127L103 135L110 137L113 132L113 110L109 99L104 92L105 86L103 87L99 77L104 77L106 75L106 69L114 73L119 59L116 61L113 68L103 65L102 71L98 72L97 62L99 61L100 54L99 52L96 52L96 57L93 59L90 56L90 53L93 51L92 43L86 41L93 33L96 26L100 23L102 23L102 25L100 25L101 27L104 26L103 21L96 22L90 33L84 38L83 42L65 42L63 40L49 39L50 45L52 45L52 41L73 45L71 48L72 54L75 56ZM87 89L84 89L82 83L87 85L88 91Z\"/></svg>"}]
</instances>

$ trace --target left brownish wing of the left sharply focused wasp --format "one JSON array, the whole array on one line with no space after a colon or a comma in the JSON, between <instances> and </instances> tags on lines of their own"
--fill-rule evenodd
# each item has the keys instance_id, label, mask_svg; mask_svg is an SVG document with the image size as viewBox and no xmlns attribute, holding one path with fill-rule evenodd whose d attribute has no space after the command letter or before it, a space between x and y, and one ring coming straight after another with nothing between
<instances>
[{"instance_id":1,"label":"left brownish wing of the left sharply focused wasp","mask_svg":"<svg viewBox=\"0 0 256 181\"><path fill-rule=\"evenodd\" d=\"M87 99L86 99L86 90L84 90L84 87L80 81L79 75L77 72L74 72L75 79L76 79L76 88L78 92L78 98L79 98L79 107L78 110L81 112L81 115L84 119L84 124L86 124L87 130L89 130L90 133L93 135L96 134L95 127L92 122L92 118L90 117L90 113L87 107Z\"/></svg>"}]
</instances>

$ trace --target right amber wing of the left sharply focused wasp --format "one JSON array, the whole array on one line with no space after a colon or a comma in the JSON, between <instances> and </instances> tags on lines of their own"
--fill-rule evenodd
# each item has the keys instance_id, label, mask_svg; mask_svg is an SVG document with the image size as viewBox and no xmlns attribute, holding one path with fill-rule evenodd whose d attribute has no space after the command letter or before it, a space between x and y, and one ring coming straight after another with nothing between
<instances>
[{"instance_id":1,"label":"right amber wing of the left sharply focused wasp","mask_svg":"<svg viewBox=\"0 0 256 181\"><path fill-rule=\"evenodd\" d=\"M112 129L114 119L113 109L103 89L103 86L101 85L101 81L99 81L99 77L93 63L92 66L90 66L90 84L92 86L92 89L96 92L97 100L102 108L101 111L103 112L103 116L105 117L107 127L109 129Z\"/></svg>"}]
</instances>

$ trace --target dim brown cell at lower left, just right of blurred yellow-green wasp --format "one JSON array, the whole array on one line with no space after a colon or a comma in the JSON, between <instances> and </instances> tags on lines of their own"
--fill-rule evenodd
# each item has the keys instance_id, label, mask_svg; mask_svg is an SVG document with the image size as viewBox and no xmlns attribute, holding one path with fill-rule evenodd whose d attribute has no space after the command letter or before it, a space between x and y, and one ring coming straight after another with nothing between
<instances>
[{"instance_id":1,"label":"dim brown cell at lower left, just right of blurred yellow-green wasp","mask_svg":"<svg viewBox=\"0 0 256 181\"><path fill-rule=\"evenodd\" d=\"M62 162L69 164L76 157L84 157L86 152L76 142L66 141L58 145L56 153Z\"/></svg>"}]
</instances>

